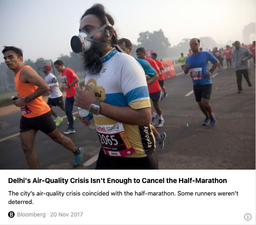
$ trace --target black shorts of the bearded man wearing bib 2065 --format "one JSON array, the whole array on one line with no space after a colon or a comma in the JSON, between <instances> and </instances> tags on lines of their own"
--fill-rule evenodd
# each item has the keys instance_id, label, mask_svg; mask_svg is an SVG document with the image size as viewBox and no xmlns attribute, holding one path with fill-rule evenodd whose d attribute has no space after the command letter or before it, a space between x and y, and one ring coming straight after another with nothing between
<instances>
[{"instance_id":1,"label":"black shorts of the bearded man wearing bib 2065","mask_svg":"<svg viewBox=\"0 0 256 225\"><path fill-rule=\"evenodd\" d=\"M157 153L142 158L112 157L104 154L102 148L95 170L158 170Z\"/></svg>"}]
</instances>

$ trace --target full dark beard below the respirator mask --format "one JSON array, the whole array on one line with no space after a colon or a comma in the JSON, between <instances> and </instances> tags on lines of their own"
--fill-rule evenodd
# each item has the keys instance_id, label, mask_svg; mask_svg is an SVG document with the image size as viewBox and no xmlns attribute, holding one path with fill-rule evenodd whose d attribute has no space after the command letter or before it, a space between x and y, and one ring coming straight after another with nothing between
<instances>
[{"instance_id":1,"label":"full dark beard below the respirator mask","mask_svg":"<svg viewBox=\"0 0 256 225\"><path fill-rule=\"evenodd\" d=\"M101 38L105 39L105 38ZM101 40L106 41L106 40ZM97 75L101 71L102 63L101 57L103 52L107 48L107 45L93 42L93 46L88 52L82 53L82 68L86 71L86 74Z\"/></svg>"}]
</instances>

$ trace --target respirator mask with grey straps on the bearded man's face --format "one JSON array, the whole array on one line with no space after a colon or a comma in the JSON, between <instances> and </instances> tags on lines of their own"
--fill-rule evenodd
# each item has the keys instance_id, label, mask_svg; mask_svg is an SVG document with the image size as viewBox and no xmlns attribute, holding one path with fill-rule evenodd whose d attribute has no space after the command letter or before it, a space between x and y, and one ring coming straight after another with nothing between
<instances>
[{"instance_id":1,"label":"respirator mask with grey straps on the bearded man's face","mask_svg":"<svg viewBox=\"0 0 256 225\"><path fill-rule=\"evenodd\" d=\"M96 40L96 39L92 38L95 34L100 32L102 29L104 29L107 26L113 27L112 24L110 24L108 22L108 19L107 19L107 23L105 23L99 29L95 30L95 32L93 32L92 34L89 34L84 29L82 29L79 32L78 36L73 36L71 38L71 43L70 44L71 44L71 48L72 48L73 52L74 53L81 53L81 52L86 53L89 49L92 48L93 42L97 42L97 43L101 43L101 44L107 44L107 45L112 46L112 47L116 47L116 49L119 52L125 53L117 44L110 44L108 42L103 42L101 40ZM105 34L106 34L107 37L110 36L108 29L105 30Z\"/></svg>"}]
</instances>

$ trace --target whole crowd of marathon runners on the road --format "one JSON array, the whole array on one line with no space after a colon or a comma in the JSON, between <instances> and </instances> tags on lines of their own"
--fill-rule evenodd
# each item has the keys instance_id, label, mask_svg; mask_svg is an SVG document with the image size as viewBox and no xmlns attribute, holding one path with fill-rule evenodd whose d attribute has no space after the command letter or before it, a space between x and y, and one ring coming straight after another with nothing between
<instances>
[{"instance_id":1,"label":"whole crowd of marathon runners on the road","mask_svg":"<svg viewBox=\"0 0 256 225\"><path fill-rule=\"evenodd\" d=\"M255 41L250 50L236 41L233 48L213 48L212 53L203 51L197 38L192 38L189 45L189 53L187 56L181 53L179 62L184 74L192 78L196 101L205 116L202 124L215 126L210 104L211 75L217 67L223 68L225 57L228 69L236 71L238 93L243 90L242 74L248 86L252 86L248 59L254 57L255 63ZM74 167L82 164L84 149L76 147L58 131L63 119L52 108L58 106L65 111L68 126L64 133L68 135L75 133L72 114L75 105L88 110L88 116L77 114L85 126L95 123L101 144L96 169L158 169L157 151L164 148L167 136L157 131L164 126L160 103L168 94L163 80L164 66L157 53L147 58L146 50L141 47L136 49L137 58L132 57L131 41L117 38L114 19L101 4L93 5L82 15L79 34L71 39L71 48L81 54L86 72L85 89L77 85L79 78L71 68L65 67L61 60L55 61L54 67L61 74L61 87L66 92L65 104L51 65L43 66L46 75L43 80L30 66L23 65L20 48L4 46L2 50L7 67L15 74L17 96L13 104L22 111L20 139L30 168L39 169L34 148L38 130L73 153ZM213 64L210 69L208 61ZM47 91L49 99L45 103L42 95Z\"/></svg>"}]
</instances>

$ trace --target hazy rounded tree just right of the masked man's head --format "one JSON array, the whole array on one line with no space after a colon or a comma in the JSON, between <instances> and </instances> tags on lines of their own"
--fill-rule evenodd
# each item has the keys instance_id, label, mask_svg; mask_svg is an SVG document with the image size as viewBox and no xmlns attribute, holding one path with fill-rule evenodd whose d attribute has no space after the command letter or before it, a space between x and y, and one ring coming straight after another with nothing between
<instances>
[{"instance_id":1,"label":"hazy rounded tree just right of the masked man's head","mask_svg":"<svg viewBox=\"0 0 256 225\"><path fill-rule=\"evenodd\" d=\"M164 58L167 56L167 50L170 48L171 44L163 34L163 31L151 32L141 32L138 38L139 46L143 46L145 50L153 50L157 53L158 58ZM138 46L136 46L138 47ZM136 51L136 49L134 49Z\"/></svg>"}]
</instances>

